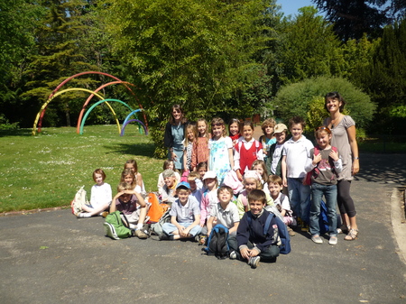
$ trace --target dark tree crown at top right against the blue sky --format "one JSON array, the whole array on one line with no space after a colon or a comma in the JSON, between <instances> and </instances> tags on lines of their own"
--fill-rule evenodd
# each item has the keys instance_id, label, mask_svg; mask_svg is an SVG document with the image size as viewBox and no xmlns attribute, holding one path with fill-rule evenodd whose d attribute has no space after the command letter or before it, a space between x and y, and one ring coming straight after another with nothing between
<instances>
[{"instance_id":1,"label":"dark tree crown at top right against the blue sky","mask_svg":"<svg viewBox=\"0 0 406 304\"><path fill-rule=\"evenodd\" d=\"M343 40L379 36L383 25L391 19L387 16L386 0L312 0L326 14L328 22Z\"/></svg>"}]
</instances>

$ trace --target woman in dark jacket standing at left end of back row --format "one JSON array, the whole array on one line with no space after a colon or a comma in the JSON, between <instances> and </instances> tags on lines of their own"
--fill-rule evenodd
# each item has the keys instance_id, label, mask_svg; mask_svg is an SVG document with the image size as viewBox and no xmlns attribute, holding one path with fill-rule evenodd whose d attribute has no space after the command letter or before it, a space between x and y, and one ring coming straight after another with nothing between
<instances>
[{"instance_id":1,"label":"woman in dark jacket standing at left end of back row","mask_svg":"<svg viewBox=\"0 0 406 304\"><path fill-rule=\"evenodd\" d=\"M183 169L183 139L185 138L186 117L180 105L173 105L171 117L165 127L163 143L168 148L168 160L172 160L175 169Z\"/></svg>"}]
</instances>

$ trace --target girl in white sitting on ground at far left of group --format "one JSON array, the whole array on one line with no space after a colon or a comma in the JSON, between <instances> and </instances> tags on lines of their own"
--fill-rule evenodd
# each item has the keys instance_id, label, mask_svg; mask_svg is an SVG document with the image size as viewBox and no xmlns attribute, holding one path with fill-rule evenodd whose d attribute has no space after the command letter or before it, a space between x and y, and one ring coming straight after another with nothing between
<instances>
[{"instance_id":1,"label":"girl in white sitting on ground at far left of group","mask_svg":"<svg viewBox=\"0 0 406 304\"><path fill-rule=\"evenodd\" d=\"M105 182L105 171L101 169L94 170L93 180L95 180L96 185L91 189L90 205L82 205L82 210L85 212L76 214L78 218L101 216L111 204L111 187Z\"/></svg>"}]
</instances>

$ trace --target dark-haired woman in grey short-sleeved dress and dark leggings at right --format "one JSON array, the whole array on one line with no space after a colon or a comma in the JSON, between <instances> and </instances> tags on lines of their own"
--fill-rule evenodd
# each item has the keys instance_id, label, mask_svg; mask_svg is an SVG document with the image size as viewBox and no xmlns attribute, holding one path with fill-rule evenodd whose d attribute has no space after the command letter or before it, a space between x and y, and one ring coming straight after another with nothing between
<instances>
[{"instance_id":1,"label":"dark-haired woman in grey short-sleeved dress and dark leggings at right","mask_svg":"<svg viewBox=\"0 0 406 304\"><path fill-rule=\"evenodd\" d=\"M358 236L354 200L350 195L351 180L359 171L358 144L355 138L355 121L349 115L343 115L346 101L338 92L330 92L325 97L325 107L330 116L324 120L333 137L331 145L337 147L343 161L343 170L338 174L337 203L343 226L339 232L347 234L346 241L353 241ZM338 229L337 229L338 230Z\"/></svg>"}]
</instances>

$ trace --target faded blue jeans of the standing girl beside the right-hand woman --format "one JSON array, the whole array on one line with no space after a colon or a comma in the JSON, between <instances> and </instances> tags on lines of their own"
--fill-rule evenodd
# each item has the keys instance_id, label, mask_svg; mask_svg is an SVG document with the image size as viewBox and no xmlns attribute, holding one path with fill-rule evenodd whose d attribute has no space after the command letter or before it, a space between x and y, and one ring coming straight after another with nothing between
<instances>
[{"instance_id":1,"label":"faded blue jeans of the standing girl beside the right-hand woman","mask_svg":"<svg viewBox=\"0 0 406 304\"><path fill-rule=\"evenodd\" d=\"M320 216L321 198L323 198L324 195L328 209L328 234L330 236L337 236L337 186L313 183L311 185L311 194L310 234L320 235L318 217Z\"/></svg>"}]
</instances>

